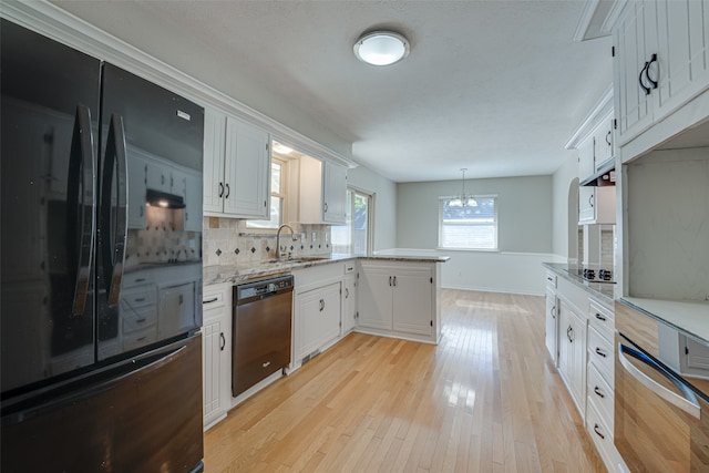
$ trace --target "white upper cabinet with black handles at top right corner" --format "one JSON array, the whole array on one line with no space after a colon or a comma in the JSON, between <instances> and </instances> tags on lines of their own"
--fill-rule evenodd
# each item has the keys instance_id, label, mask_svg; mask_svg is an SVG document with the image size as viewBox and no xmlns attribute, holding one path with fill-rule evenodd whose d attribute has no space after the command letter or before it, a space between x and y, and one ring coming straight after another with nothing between
<instances>
[{"instance_id":1,"label":"white upper cabinet with black handles at top right corner","mask_svg":"<svg viewBox=\"0 0 709 473\"><path fill-rule=\"evenodd\" d=\"M707 1L627 2L614 28L614 56L623 146L709 89ZM707 112L689 115L680 126L692 125Z\"/></svg>"}]
</instances>

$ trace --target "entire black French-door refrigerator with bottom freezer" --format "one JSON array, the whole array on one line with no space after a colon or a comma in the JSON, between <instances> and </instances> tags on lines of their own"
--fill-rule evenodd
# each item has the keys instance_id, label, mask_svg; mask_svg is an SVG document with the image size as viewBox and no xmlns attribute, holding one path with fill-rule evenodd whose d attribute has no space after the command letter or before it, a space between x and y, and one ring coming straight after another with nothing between
<instances>
[{"instance_id":1,"label":"entire black French-door refrigerator with bottom freezer","mask_svg":"<svg viewBox=\"0 0 709 473\"><path fill-rule=\"evenodd\" d=\"M1 21L0 470L202 471L204 110Z\"/></svg>"}]
</instances>

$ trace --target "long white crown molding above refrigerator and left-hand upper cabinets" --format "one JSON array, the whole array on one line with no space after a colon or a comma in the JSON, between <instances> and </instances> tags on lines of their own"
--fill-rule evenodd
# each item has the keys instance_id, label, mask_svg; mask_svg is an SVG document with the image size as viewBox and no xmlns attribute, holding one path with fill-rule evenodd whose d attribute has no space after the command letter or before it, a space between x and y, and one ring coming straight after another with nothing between
<instances>
[{"instance_id":1,"label":"long white crown molding above refrigerator and left-hand upper cabinets","mask_svg":"<svg viewBox=\"0 0 709 473\"><path fill-rule=\"evenodd\" d=\"M349 168L357 164L172 65L138 50L45 0L0 2L0 17L189 99L240 117L315 157Z\"/></svg>"}]
</instances>

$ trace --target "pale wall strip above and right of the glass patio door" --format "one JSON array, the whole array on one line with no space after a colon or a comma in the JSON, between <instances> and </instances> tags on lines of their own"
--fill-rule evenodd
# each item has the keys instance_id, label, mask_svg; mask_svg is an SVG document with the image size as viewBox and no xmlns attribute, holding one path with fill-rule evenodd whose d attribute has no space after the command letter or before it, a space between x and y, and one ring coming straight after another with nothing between
<instances>
[{"instance_id":1,"label":"pale wall strip above and right of the glass patio door","mask_svg":"<svg viewBox=\"0 0 709 473\"><path fill-rule=\"evenodd\" d=\"M347 183L374 195L374 251L397 245L397 184L364 166L349 169Z\"/></svg>"}]
</instances>

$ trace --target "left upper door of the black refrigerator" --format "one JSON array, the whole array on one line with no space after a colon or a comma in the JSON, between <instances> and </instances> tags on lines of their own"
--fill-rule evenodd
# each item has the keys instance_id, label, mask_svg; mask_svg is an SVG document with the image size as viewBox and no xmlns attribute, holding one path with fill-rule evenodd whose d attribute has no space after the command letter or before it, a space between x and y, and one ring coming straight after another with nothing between
<instances>
[{"instance_id":1,"label":"left upper door of the black refrigerator","mask_svg":"<svg viewBox=\"0 0 709 473\"><path fill-rule=\"evenodd\" d=\"M2 20L4 395L94 362L97 60Z\"/></svg>"}]
</instances>

